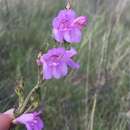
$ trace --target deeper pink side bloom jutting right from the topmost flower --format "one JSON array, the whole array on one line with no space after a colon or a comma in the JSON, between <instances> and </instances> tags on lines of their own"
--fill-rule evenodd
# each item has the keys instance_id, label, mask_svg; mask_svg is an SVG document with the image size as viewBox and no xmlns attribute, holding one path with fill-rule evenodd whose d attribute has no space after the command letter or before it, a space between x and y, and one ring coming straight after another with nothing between
<instances>
[{"instance_id":1,"label":"deeper pink side bloom jutting right from the topmost flower","mask_svg":"<svg viewBox=\"0 0 130 130\"><path fill-rule=\"evenodd\" d=\"M86 16L80 16L72 22L72 26L79 29L83 29L83 27L85 27L87 23L88 23L88 18Z\"/></svg>"}]
</instances>

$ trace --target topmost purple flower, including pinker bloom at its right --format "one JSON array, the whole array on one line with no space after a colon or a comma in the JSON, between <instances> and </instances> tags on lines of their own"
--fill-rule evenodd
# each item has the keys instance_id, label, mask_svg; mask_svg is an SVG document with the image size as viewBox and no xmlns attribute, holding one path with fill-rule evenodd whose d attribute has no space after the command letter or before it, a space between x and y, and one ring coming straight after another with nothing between
<instances>
[{"instance_id":1,"label":"topmost purple flower, including pinker bloom at its right","mask_svg":"<svg viewBox=\"0 0 130 130\"><path fill-rule=\"evenodd\" d=\"M76 13L71 9L61 10L52 22L53 37L58 42L65 40L69 43L79 43L81 31L87 22L86 16L76 17Z\"/></svg>"}]
</instances>

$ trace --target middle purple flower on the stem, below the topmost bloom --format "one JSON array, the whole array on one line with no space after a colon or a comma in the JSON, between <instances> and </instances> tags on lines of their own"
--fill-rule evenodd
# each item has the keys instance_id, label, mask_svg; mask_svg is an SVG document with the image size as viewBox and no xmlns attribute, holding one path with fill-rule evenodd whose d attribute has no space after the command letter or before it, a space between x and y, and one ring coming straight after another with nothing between
<instances>
[{"instance_id":1,"label":"middle purple flower on the stem, below the topmost bloom","mask_svg":"<svg viewBox=\"0 0 130 130\"><path fill-rule=\"evenodd\" d=\"M37 61L42 65L43 78L51 79L64 77L68 73L68 66L78 69L79 64L75 63L71 58L76 55L75 49L65 50L64 48L53 48L46 54L43 54Z\"/></svg>"}]
</instances>

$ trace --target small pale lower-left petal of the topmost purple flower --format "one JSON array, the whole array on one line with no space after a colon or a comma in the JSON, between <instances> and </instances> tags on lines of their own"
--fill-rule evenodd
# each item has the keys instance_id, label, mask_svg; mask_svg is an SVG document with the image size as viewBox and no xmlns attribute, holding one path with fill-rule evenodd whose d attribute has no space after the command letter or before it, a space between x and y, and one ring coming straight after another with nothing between
<instances>
[{"instance_id":1,"label":"small pale lower-left petal of the topmost purple flower","mask_svg":"<svg viewBox=\"0 0 130 130\"><path fill-rule=\"evenodd\" d=\"M58 29L53 28L53 37L56 41L63 42L63 34Z\"/></svg>"}]
</instances>

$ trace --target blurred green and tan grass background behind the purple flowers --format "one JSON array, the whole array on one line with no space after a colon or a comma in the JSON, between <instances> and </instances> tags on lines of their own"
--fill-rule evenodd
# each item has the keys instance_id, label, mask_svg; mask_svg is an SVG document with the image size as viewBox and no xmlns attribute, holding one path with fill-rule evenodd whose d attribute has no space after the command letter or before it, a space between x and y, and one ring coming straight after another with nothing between
<instances>
[{"instance_id":1,"label":"blurred green and tan grass background behind the purple flowers","mask_svg":"<svg viewBox=\"0 0 130 130\"><path fill-rule=\"evenodd\" d=\"M130 0L72 0L87 15L81 67L41 89L45 130L130 130ZM36 84L36 57L55 46L51 22L65 0L0 0L0 112ZM42 108L43 109L43 108ZM22 130L19 128L19 130Z\"/></svg>"}]
</instances>

